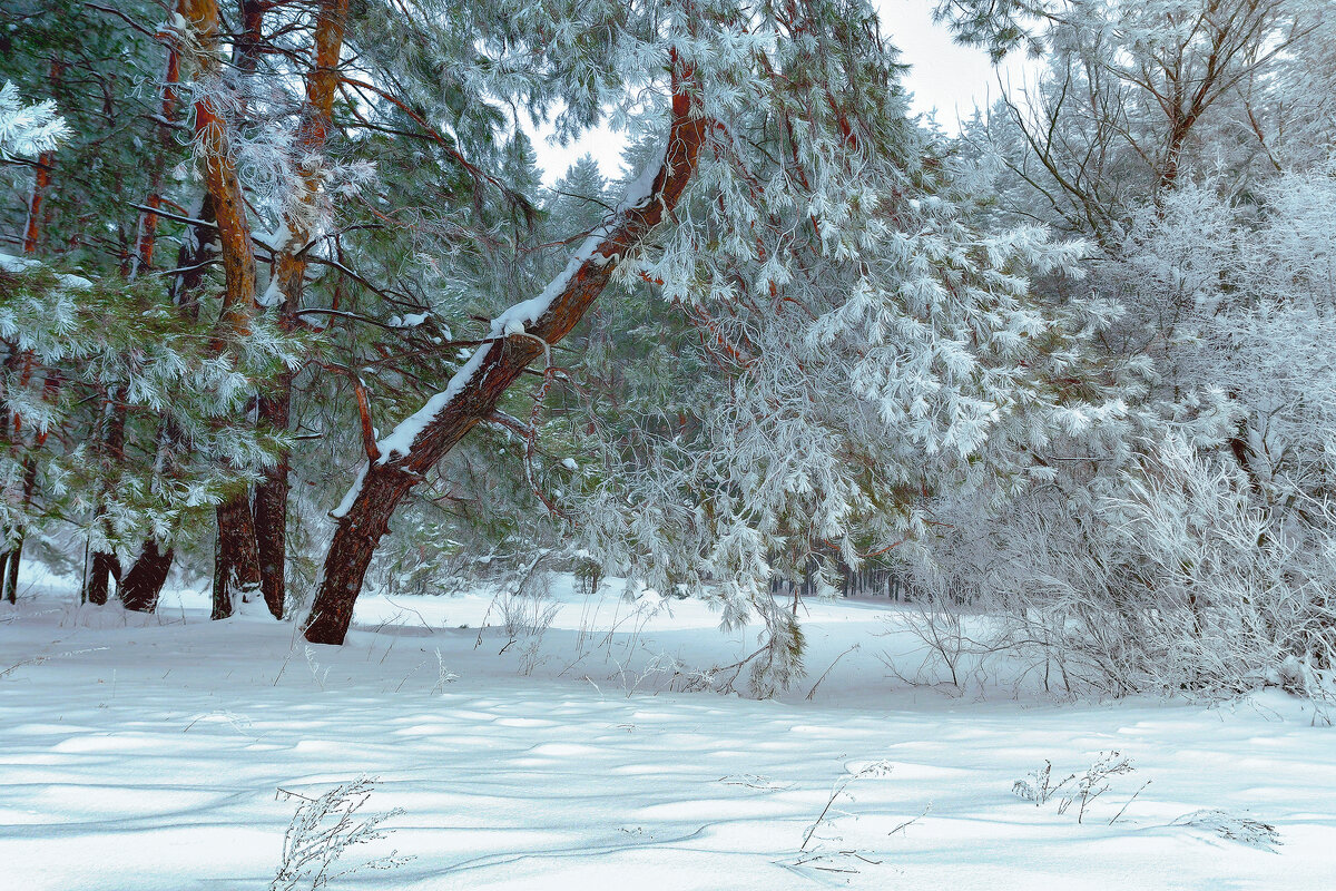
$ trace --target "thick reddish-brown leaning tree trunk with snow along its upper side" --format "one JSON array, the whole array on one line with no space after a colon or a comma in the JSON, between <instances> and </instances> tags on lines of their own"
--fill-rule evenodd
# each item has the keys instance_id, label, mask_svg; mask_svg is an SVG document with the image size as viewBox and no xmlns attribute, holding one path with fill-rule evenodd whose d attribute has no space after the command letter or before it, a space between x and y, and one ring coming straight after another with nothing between
<instances>
[{"instance_id":1,"label":"thick reddish-brown leaning tree trunk with snow along its upper side","mask_svg":"<svg viewBox=\"0 0 1336 891\"><path fill-rule=\"evenodd\" d=\"M389 439L369 443L369 464L341 510L335 512L338 525L325 556L325 573L307 618L306 640L343 643L367 566L403 496L473 425L493 413L497 401L530 362L570 333L607 287L621 258L644 243L649 231L677 204L696 171L707 131L697 103L688 92L691 79L691 71L673 53L672 126L648 194L628 195L612 220L591 235L549 286L549 302L536 309L518 305L494 319L489 342L477 349L444 393L403 421Z\"/></svg>"}]
</instances>

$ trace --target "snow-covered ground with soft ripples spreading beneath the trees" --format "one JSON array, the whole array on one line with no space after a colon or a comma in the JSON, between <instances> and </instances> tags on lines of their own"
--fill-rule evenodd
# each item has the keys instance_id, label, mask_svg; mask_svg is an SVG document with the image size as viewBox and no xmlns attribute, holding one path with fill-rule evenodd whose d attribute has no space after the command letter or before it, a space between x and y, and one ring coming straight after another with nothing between
<instances>
[{"instance_id":1,"label":"snow-covered ground with soft ripples spreading beneath the trees","mask_svg":"<svg viewBox=\"0 0 1336 891\"><path fill-rule=\"evenodd\" d=\"M569 581L554 600L510 643L488 594L367 597L330 648L210 622L196 592L146 621L29 589L0 606L0 886L263 890L297 796L365 773L365 811L402 814L341 864L413 859L331 887L1336 888L1336 731L1297 700L911 687L884 601L808 604L808 677L778 700L672 692L755 631ZM1083 815L1059 812L1075 781L1013 792L1113 751L1136 769ZM1244 820L1279 843L1221 835L1265 834Z\"/></svg>"}]
</instances>

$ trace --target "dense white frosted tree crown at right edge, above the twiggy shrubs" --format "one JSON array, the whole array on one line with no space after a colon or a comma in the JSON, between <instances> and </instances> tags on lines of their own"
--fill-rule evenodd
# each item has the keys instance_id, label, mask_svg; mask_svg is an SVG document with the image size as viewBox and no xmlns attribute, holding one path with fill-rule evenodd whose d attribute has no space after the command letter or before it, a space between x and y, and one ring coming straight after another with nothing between
<instances>
[{"instance_id":1,"label":"dense white frosted tree crown at right edge, above the twiggy shrubs","mask_svg":"<svg viewBox=\"0 0 1336 891\"><path fill-rule=\"evenodd\" d=\"M1230 397L1244 469L1284 505L1336 481L1336 178L1284 174L1255 196L1209 180L1177 190L1133 239L1128 299L1165 383Z\"/></svg>"}]
</instances>

